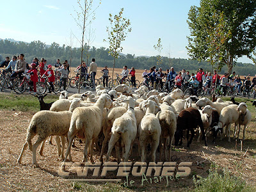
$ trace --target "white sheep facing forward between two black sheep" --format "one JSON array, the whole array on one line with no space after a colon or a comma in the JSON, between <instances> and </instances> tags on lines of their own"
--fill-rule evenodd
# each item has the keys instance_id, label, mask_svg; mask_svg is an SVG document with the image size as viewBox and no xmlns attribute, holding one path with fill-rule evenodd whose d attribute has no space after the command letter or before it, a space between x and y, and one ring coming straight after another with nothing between
<instances>
[{"instance_id":1,"label":"white sheep facing forward between two black sheep","mask_svg":"<svg viewBox=\"0 0 256 192\"><path fill-rule=\"evenodd\" d=\"M202 110L199 110L201 114L202 122L204 125L204 129L205 129L204 131L205 136L207 135L207 132L209 132L209 127L212 124L212 110L216 111L216 109L212 108L210 105L207 105L203 107ZM202 134L201 129L199 129L199 134L197 139L198 142L200 141L201 134Z\"/></svg>"}]
</instances>

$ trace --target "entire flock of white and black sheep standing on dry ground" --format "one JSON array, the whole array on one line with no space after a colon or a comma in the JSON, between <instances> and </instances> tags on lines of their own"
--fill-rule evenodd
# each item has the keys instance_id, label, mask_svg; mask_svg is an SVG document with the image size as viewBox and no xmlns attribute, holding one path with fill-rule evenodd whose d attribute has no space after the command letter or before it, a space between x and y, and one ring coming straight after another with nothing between
<instances>
[{"instance_id":1,"label":"entire flock of white and black sheep standing on dry ground","mask_svg":"<svg viewBox=\"0 0 256 192\"><path fill-rule=\"evenodd\" d=\"M221 139L227 135L230 141L231 124L235 124L234 136L237 134L237 138L241 125L244 125L244 139L246 125L252 119L244 102L239 105L223 102L221 99L211 102L207 98L198 99L196 96L184 99L184 93L178 88L168 94L157 90L149 92L146 86L141 86L134 92L121 84L113 90L97 86L96 94L88 91L68 97L68 93L64 91L60 99L52 104L45 104L42 98L39 99L40 108L49 110L38 111L31 119L18 163L29 147L33 152L32 163L38 166L36 148L42 143L42 155L45 140L49 136L56 136L58 155L64 161L67 161L67 157L72 161L70 149L75 137L84 140L83 161L87 161L89 152L93 163L93 147L101 150L99 161L103 161L107 143L108 152L104 161L109 161L114 147L118 162L121 161L121 148L122 161L129 161L134 143L138 143L141 161L147 161L147 150L150 148L150 160L155 162L158 147L158 160L162 161L164 149L164 161L170 161L173 140L175 145L182 145L184 132L187 131L187 147L197 130L198 141L202 136L205 146L210 132L214 142L218 133L221 134ZM38 138L32 144L31 140L36 135ZM64 156L66 138L68 147ZM103 141L101 138L104 138Z\"/></svg>"}]
</instances>

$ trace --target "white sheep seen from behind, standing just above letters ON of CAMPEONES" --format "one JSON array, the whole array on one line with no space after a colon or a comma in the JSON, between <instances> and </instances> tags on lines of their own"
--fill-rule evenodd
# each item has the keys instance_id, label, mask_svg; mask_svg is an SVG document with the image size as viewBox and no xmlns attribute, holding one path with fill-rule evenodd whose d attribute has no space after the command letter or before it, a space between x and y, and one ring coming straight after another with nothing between
<instances>
[{"instance_id":1,"label":"white sheep seen from behind, standing just above letters ON of CAMPEONES","mask_svg":"<svg viewBox=\"0 0 256 192\"><path fill-rule=\"evenodd\" d=\"M146 147L148 143L152 143L152 162L156 162L156 150L159 145L161 136L161 125L159 119L155 115L155 103L152 100L147 100L143 106L147 108L146 115L142 118L139 126L139 138L141 148L141 162L147 159Z\"/></svg>"}]
</instances>

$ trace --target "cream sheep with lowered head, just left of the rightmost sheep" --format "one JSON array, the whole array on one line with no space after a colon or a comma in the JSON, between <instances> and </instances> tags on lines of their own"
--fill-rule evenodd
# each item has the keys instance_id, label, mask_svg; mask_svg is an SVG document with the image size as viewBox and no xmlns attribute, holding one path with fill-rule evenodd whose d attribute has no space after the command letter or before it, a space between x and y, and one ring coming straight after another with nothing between
<instances>
[{"instance_id":1,"label":"cream sheep with lowered head, just left of the rightmost sheep","mask_svg":"<svg viewBox=\"0 0 256 192\"><path fill-rule=\"evenodd\" d=\"M235 130L236 130L236 126L238 122L239 122L239 111L237 111L237 105L235 104L229 105L221 110L218 125L215 125L213 127L213 131L217 132L220 129L223 129L223 134L221 134L221 140L223 136L225 136L225 133L227 132L228 142L230 142L231 124L235 124ZM224 129L225 126L226 126L226 129Z\"/></svg>"}]
</instances>

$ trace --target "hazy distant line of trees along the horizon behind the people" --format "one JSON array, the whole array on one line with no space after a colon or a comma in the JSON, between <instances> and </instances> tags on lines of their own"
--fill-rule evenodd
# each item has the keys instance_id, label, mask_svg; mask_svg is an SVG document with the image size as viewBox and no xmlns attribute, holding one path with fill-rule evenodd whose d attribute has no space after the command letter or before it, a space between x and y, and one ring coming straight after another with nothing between
<instances>
[{"instance_id":1,"label":"hazy distant line of trees along the horizon behind the people","mask_svg":"<svg viewBox=\"0 0 256 192\"><path fill-rule=\"evenodd\" d=\"M84 55L83 60L86 61L86 50L88 50L87 45L84 46ZM109 68L113 67L113 57L108 53L109 49L105 47L90 47L89 51L89 59L88 62L92 60L92 58L96 59L96 63L99 67L104 67L108 65ZM56 59L59 58L61 62L72 59L72 67L77 67L80 63L81 58L81 49L80 48L72 48L70 46L56 44L53 42L51 45L45 45L45 43L40 41L33 41L31 43L26 42L10 42L9 40L0 40L0 54L3 57L12 55L18 55L19 53L24 53L26 61L31 63L34 57L45 58L47 60L47 64L56 63ZM150 68L155 66L157 63L157 57L134 57L134 54L121 55L116 60L116 68L122 68L124 65L127 65L128 68L135 67L139 69ZM156 65L157 66L157 65ZM189 70L191 72L195 72L198 68L203 68L204 71L211 71L211 65L206 61L198 62L196 60L186 60L182 58L167 58L163 57L163 62L161 66L157 66L157 68L162 67L163 70L167 68L174 67L175 71L180 71L182 68ZM223 67L221 73L227 71L227 67ZM232 71L236 71L236 74L239 75L248 75L254 76L256 73L255 66L251 63L236 63L235 67Z\"/></svg>"}]
</instances>

